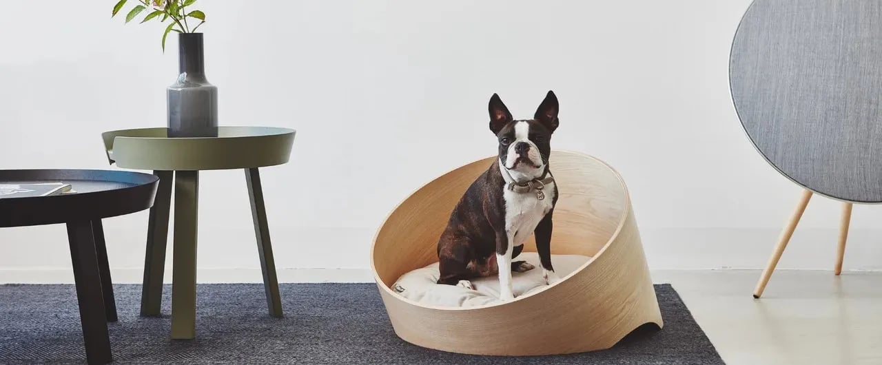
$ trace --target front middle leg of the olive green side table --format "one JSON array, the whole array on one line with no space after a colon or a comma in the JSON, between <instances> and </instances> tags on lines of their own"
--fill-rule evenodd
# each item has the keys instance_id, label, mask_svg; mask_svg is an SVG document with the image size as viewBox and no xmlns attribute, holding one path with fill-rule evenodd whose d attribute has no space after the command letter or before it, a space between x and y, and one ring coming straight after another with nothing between
<instances>
[{"instance_id":1,"label":"front middle leg of the olive green side table","mask_svg":"<svg viewBox=\"0 0 882 365\"><path fill-rule=\"evenodd\" d=\"M171 338L196 338L196 242L199 172L176 171L175 255L172 264Z\"/></svg>"}]
</instances>

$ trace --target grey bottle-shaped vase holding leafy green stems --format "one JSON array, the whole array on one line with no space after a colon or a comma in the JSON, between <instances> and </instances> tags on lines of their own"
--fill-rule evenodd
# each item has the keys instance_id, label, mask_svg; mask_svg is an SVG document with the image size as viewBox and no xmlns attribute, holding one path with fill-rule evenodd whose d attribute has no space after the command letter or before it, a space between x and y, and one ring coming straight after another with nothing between
<instances>
[{"instance_id":1,"label":"grey bottle-shaped vase holding leafy green stems","mask_svg":"<svg viewBox=\"0 0 882 365\"><path fill-rule=\"evenodd\" d=\"M179 74L168 86L168 137L217 137L218 88L208 83L201 33L177 36Z\"/></svg>"}]
</instances>

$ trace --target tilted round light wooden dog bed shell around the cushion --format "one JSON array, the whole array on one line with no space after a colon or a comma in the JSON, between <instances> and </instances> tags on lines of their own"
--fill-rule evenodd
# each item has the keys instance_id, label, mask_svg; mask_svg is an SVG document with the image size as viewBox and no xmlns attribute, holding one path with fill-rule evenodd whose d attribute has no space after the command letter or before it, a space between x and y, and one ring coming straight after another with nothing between
<instances>
[{"instance_id":1,"label":"tilted round light wooden dog bed shell around the cushion","mask_svg":"<svg viewBox=\"0 0 882 365\"><path fill-rule=\"evenodd\" d=\"M621 176L581 153L550 156L560 197L552 254L593 257L539 293L468 309L407 300L390 286L437 262L437 239L467 187L494 163L478 160L416 190L377 232L371 266L395 333L418 346L461 354L536 355L602 350L641 324L662 327L637 222ZM525 251L534 251L531 239Z\"/></svg>"}]
</instances>

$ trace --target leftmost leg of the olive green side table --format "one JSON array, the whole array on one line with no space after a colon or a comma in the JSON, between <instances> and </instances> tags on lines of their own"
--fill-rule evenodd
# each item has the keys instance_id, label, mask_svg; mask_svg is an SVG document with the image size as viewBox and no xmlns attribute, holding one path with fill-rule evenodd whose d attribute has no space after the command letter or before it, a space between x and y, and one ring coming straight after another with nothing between
<instances>
[{"instance_id":1,"label":"leftmost leg of the olive green side table","mask_svg":"<svg viewBox=\"0 0 882 365\"><path fill-rule=\"evenodd\" d=\"M162 305L162 274L168 245L168 210L171 208L171 185L174 171L153 171L160 178L156 198L147 224L147 249L144 256L144 284L141 286L141 317L158 317Z\"/></svg>"}]
</instances>

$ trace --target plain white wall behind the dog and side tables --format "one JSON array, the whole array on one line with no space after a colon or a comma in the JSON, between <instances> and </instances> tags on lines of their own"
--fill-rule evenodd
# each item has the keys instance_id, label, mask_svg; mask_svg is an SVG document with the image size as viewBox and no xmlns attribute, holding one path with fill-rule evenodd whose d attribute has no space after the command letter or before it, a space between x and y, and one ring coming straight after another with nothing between
<instances>
[{"instance_id":1,"label":"plain white wall behind the dog and side tables","mask_svg":"<svg viewBox=\"0 0 882 365\"><path fill-rule=\"evenodd\" d=\"M116 168L101 131L164 125L176 40L163 55L161 25L123 26L114 3L4 4L22 16L0 22L0 168ZM553 147L624 175L655 269L761 267L799 195L753 149L729 98L748 0L197 4L221 124L297 130L290 163L263 170L286 281L370 279L390 209L495 153L492 93L516 117L557 93ZM243 173L200 182L200 281L259 280ZM829 269L838 214L813 199L781 267ZM880 219L856 207L846 268L882 267ZM106 220L116 280L140 279L146 220ZM65 239L63 226L0 229L0 282L70 282Z\"/></svg>"}]
</instances>

